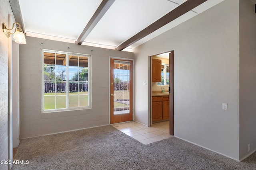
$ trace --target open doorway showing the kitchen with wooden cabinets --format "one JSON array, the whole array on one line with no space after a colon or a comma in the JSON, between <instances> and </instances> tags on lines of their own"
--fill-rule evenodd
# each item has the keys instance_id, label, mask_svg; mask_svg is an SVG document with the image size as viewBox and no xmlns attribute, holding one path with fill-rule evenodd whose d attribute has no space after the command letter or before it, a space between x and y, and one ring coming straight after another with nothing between
<instances>
[{"instance_id":1,"label":"open doorway showing the kitchen with wooden cabinets","mask_svg":"<svg viewBox=\"0 0 256 170\"><path fill-rule=\"evenodd\" d=\"M150 56L150 123L169 121L174 135L174 51Z\"/></svg>"}]
</instances>

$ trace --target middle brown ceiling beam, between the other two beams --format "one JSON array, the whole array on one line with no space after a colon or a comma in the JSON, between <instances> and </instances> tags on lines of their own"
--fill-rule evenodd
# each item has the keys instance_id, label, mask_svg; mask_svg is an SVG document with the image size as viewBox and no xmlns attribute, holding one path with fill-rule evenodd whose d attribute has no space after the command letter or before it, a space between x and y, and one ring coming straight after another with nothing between
<instances>
[{"instance_id":1,"label":"middle brown ceiling beam, between the other two beams","mask_svg":"<svg viewBox=\"0 0 256 170\"><path fill-rule=\"evenodd\" d=\"M104 14L108 11L110 6L115 2L115 0L102 0L100 6L93 14L90 21L87 23L86 27L82 31L81 35L76 40L76 44L81 45L82 42L86 39L92 29L97 25L98 21L104 16Z\"/></svg>"}]
</instances>

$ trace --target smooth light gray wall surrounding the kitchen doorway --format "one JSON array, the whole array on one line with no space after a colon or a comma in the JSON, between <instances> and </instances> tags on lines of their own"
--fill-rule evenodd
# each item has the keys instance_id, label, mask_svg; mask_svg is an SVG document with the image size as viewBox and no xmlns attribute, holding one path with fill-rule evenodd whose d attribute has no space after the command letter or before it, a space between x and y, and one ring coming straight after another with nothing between
<instances>
[{"instance_id":1,"label":"smooth light gray wall surrounding the kitchen doorway","mask_svg":"<svg viewBox=\"0 0 256 170\"><path fill-rule=\"evenodd\" d=\"M148 122L148 86L142 86L148 56L171 50L174 135L238 160L239 0L225 0L134 49L136 121Z\"/></svg>"}]
</instances>

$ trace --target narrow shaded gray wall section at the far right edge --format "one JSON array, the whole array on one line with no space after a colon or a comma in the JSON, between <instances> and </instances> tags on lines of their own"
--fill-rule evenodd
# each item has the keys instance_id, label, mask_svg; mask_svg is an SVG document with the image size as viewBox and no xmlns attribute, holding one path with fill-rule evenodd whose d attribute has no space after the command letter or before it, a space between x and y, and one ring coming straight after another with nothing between
<instances>
[{"instance_id":1,"label":"narrow shaded gray wall section at the far right edge","mask_svg":"<svg viewBox=\"0 0 256 170\"><path fill-rule=\"evenodd\" d=\"M256 150L256 13L240 0L240 159ZM250 151L248 152L248 144Z\"/></svg>"}]
</instances>

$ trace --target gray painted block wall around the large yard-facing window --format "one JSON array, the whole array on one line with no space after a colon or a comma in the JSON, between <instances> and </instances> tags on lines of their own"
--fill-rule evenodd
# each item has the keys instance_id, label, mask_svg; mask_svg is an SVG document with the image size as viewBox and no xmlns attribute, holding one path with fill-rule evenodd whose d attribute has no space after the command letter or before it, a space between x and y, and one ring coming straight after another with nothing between
<instances>
[{"instance_id":1,"label":"gray painted block wall around the large yard-facing window","mask_svg":"<svg viewBox=\"0 0 256 170\"><path fill-rule=\"evenodd\" d=\"M34 137L109 124L109 57L134 54L26 37L20 45L20 137ZM44 43L44 45L41 45ZM92 109L41 113L41 48L92 55Z\"/></svg>"}]
</instances>

